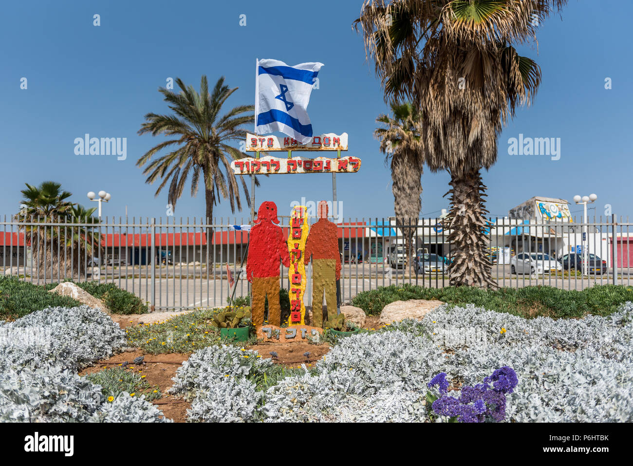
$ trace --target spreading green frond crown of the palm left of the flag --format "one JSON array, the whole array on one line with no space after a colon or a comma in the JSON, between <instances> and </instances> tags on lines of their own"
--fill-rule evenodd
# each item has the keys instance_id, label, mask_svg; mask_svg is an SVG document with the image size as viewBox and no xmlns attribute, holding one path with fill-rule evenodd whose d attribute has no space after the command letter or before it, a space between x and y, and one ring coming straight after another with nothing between
<instances>
[{"instance_id":1,"label":"spreading green frond crown of the palm left of the flag","mask_svg":"<svg viewBox=\"0 0 633 466\"><path fill-rule=\"evenodd\" d=\"M180 79L176 79L180 92L168 91L160 88L164 100L168 103L172 115L158 115L147 113L146 122L142 123L139 134L151 133L156 136L164 134L173 139L161 142L149 149L136 165L142 167L149 174L146 183L152 184L159 177L163 179L156 196L169 183L168 202L175 207L176 201L182 196L187 177L191 175L191 196L196 196L198 183L202 175L204 195L206 201L206 218L213 221L213 206L221 198L229 198L231 211L242 210L239 196L239 184L231 170L230 163L234 159L244 157L238 149L229 146L236 139L244 139L246 131L242 125L254 122L254 106L240 105L232 108L224 115L220 115L222 105L237 90L229 89L221 77L216 82L213 92L209 94L208 82L203 75L200 82L200 92L193 86L185 86ZM244 115L246 113L246 115ZM151 161L154 154L169 146L177 146L173 151ZM226 175L222 172L225 169ZM246 195L246 203L250 206L248 188L243 177L242 188ZM255 180L259 186L258 180Z\"/></svg>"}]
</instances>

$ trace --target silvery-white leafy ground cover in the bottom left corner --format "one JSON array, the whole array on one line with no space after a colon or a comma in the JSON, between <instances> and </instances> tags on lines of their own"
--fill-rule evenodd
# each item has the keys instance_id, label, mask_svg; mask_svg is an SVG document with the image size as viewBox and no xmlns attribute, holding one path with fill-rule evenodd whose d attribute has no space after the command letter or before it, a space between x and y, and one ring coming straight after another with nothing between
<instances>
[{"instance_id":1,"label":"silvery-white leafy ground cover in the bottom left corner","mask_svg":"<svg viewBox=\"0 0 633 466\"><path fill-rule=\"evenodd\" d=\"M0 325L0 422L158 422L143 397L107 400L77 375L126 346L125 332L103 312L47 308Z\"/></svg>"}]
</instances>

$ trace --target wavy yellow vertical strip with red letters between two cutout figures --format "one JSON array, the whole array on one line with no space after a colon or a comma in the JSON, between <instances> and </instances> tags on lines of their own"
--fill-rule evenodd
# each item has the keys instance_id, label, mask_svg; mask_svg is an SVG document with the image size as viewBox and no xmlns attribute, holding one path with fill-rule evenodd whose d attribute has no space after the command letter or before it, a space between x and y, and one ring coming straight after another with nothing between
<instances>
[{"instance_id":1,"label":"wavy yellow vertical strip with red letters between two cutout figures","mask_svg":"<svg viewBox=\"0 0 633 466\"><path fill-rule=\"evenodd\" d=\"M305 324L306 306L303 294L306 291L306 267L304 251L308 239L307 210L305 206L294 206L290 214L290 234L288 235L288 251L290 255L290 322L289 325Z\"/></svg>"}]
</instances>

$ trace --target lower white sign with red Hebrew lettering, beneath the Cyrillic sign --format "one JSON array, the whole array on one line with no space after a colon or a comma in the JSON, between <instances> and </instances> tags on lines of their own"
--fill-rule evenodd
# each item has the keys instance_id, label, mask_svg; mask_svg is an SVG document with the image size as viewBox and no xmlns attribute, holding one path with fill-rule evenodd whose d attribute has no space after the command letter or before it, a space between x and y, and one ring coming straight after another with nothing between
<instances>
[{"instance_id":1,"label":"lower white sign with red Hebrew lettering, beneath the Cyrillic sign","mask_svg":"<svg viewBox=\"0 0 633 466\"><path fill-rule=\"evenodd\" d=\"M246 157L231 162L235 175L275 175L287 173L355 173L360 170L360 158L281 158L266 155Z\"/></svg>"}]
</instances>

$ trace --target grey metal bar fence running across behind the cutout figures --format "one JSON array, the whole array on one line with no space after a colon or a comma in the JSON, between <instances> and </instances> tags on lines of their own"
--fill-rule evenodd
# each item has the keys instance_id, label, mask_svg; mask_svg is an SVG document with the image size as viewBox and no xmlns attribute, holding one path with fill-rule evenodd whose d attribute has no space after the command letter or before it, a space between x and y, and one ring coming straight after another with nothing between
<instances>
[{"instance_id":1,"label":"grey metal bar fence running across behind the cutout figures","mask_svg":"<svg viewBox=\"0 0 633 466\"><path fill-rule=\"evenodd\" d=\"M289 234L289 218L280 217ZM314 222L314 218L309 219ZM232 292L249 294L246 280L248 232L244 218L156 220L104 218L99 224L0 222L0 265L5 275L34 284L93 280L114 283L155 310L222 306ZM633 231L615 217L586 224L491 218L485 228L492 276L502 287L546 285L584 289L594 284L630 284ZM337 224L341 251L341 301L362 291L410 283L449 285L453 260L449 225L442 218L396 227L391 218L355 218ZM407 242L406 238L411 241ZM35 241L34 238L39 238ZM90 250L90 242L94 249ZM86 243L88 246L86 246ZM408 244L408 251L406 250ZM411 258L411 266L407 265ZM238 272L242 271L241 274ZM306 306L311 305L311 268L306 268ZM280 265L281 286L290 288Z\"/></svg>"}]
</instances>

